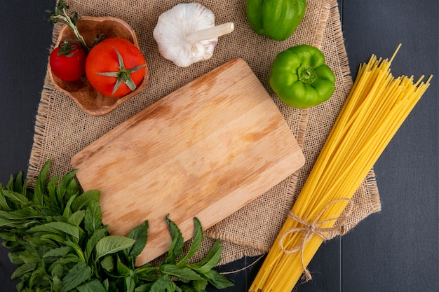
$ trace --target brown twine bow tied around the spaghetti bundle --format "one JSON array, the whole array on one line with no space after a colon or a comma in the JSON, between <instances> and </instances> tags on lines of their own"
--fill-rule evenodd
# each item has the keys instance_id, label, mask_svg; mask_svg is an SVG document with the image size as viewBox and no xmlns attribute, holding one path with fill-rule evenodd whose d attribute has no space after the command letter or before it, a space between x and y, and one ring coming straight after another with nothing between
<instances>
[{"instance_id":1,"label":"brown twine bow tied around the spaghetti bundle","mask_svg":"<svg viewBox=\"0 0 439 292\"><path fill-rule=\"evenodd\" d=\"M335 204L336 202L340 202L340 201L348 201L349 202L348 203L349 209L347 212L344 212L342 215L338 216L337 218L329 218L329 219L326 219L323 221L319 221L321 216L323 216L325 211L332 204ZM282 251L286 254L296 253L297 251L300 251L300 260L302 262L302 267L304 269L304 278L306 279L306 281L309 281L312 279L311 273L309 272L309 270L306 268L306 265L304 264L304 247L305 247L306 242L308 242L309 239L311 239L311 237L313 235L317 235L318 237L322 238L323 240L329 240L329 239L332 239L333 237L339 235L339 228L346 222L346 219L349 217L349 214L351 214L351 212L352 212L353 204L350 204L350 202L351 202L351 199L348 199L348 198L341 198L341 199L336 199L336 200L330 201L326 205L326 207L323 208L323 210L320 211L320 213L316 216L316 218L314 218L314 220L310 223L304 221L302 218L299 218L299 216L292 213L292 211L289 212L288 217L299 222L303 226L297 227L297 228L291 228L290 230L287 230L286 232L284 232L281 239L279 240L279 245L281 246ZM333 225L330 228L321 227L322 225L324 225L325 223L330 222L330 221L336 221L335 225ZM287 237L288 235L295 233L295 232L304 233L304 237L302 239L302 242L298 246L293 247L292 249L286 249L285 246L283 245L283 241L284 241L285 237Z\"/></svg>"}]
</instances>

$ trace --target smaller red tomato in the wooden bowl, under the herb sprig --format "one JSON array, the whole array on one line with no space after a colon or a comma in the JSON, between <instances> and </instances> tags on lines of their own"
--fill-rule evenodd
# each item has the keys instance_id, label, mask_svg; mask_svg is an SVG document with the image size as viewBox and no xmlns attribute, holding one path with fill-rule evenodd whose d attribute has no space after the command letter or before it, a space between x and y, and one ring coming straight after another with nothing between
<instances>
[{"instance_id":1,"label":"smaller red tomato in the wooden bowl, under the herb sprig","mask_svg":"<svg viewBox=\"0 0 439 292\"><path fill-rule=\"evenodd\" d=\"M62 81L76 81L86 74L86 57L81 44L64 41L50 53L50 69Z\"/></svg>"}]
</instances>

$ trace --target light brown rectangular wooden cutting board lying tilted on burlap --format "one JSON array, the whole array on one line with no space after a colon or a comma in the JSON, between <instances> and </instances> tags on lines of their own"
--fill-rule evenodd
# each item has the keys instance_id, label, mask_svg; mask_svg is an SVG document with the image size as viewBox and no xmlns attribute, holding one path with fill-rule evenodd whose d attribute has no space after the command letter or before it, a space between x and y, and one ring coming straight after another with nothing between
<instances>
[{"instance_id":1,"label":"light brown rectangular wooden cutting board lying tilted on burlap","mask_svg":"<svg viewBox=\"0 0 439 292\"><path fill-rule=\"evenodd\" d=\"M160 99L72 158L83 189L101 191L112 235L149 221L137 265L168 251L167 214L190 239L194 216L209 228L303 164L276 104L241 59Z\"/></svg>"}]
</instances>

